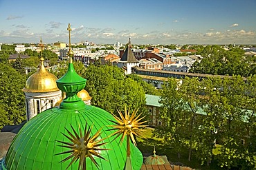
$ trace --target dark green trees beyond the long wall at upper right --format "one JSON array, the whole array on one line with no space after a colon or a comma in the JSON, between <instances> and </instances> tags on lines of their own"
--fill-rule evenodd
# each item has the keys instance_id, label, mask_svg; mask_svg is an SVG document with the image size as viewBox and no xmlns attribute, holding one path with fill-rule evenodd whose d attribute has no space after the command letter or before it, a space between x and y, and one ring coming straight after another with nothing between
<instances>
[{"instance_id":1,"label":"dark green trees beyond the long wall at upper right","mask_svg":"<svg viewBox=\"0 0 256 170\"><path fill-rule=\"evenodd\" d=\"M203 56L201 62L195 62L190 72L218 75L241 75L244 77L256 74L256 58L244 56L239 47L226 51L219 45L195 47Z\"/></svg>"}]
</instances>

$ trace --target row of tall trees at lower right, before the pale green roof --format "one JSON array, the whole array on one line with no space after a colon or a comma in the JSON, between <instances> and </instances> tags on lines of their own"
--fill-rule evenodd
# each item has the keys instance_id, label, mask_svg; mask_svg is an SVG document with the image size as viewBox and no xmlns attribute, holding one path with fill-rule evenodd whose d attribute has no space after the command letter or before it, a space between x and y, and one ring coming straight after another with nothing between
<instances>
[{"instance_id":1,"label":"row of tall trees at lower right, before the pale green roof","mask_svg":"<svg viewBox=\"0 0 256 170\"><path fill-rule=\"evenodd\" d=\"M189 160L217 160L227 169L256 168L256 76L174 78L161 91L163 127L154 131L176 149L187 148Z\"/></svg>"}]
</instances>

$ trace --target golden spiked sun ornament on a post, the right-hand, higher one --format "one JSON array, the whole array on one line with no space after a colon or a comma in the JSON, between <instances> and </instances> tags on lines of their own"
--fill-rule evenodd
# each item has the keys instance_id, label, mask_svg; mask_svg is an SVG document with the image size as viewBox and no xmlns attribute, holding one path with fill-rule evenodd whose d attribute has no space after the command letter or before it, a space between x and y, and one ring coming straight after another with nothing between
<instances>
[{"instance_id":1,"label":"golden spiked sun ornament on a post, the right-hand, higher one","mask_svg":"<svg viewBox=\"0 0 256 170\"><path fill-rule=\"evenodd\" d=\"M125 139L125 136L127 136L127 156L129 156L129 154L130 154L130 147L129 147L130 138L131 138L132 142L134 143L134 145L136 145L134 135L143 137L144 129L140 129L140 128L147 127L147 125L142 125L143 123L146 123L147 121L143 121L140 123L140 120L145 118L145 116L143 116L142 118L139 118L141 115L141 114L139 114L136 117L137 112L138 112L138 109L134 110L130 116L130 109L128 109L128 111L127 111L127 109L125 108L125 116L123 116L122 112L120 110L118 110L118 114L119 114L120 118L118 118L118 116L112 114L113 118L115 118L116 121L109 120L112 123L116 124L116 125L109 125L110 127L113 127L113 129L109 129L109 130L117 130L116 132L111 134L112 136L117 135L116 138L118 138L118 136L122 136L122 138L120 138L119 142L123 142L123 140ZM114 138L114 140L116 138Z\"/></svg>"}]
</instances>

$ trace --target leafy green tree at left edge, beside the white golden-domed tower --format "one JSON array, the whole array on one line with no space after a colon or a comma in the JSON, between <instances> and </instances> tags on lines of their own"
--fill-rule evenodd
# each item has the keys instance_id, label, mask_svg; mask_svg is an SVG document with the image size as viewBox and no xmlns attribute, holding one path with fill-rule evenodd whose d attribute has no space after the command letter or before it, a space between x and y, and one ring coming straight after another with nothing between
<instances>
[{"instance_id":1,"label":"leafy green tree at left edge, beside the white golden-domed tower","mask_svg":"<svg viewBox=\"0 0 256 170\"><path fill-rule=\"evenodd\" d=\"M25 96L21 91L26 83L26 76L8 64L0 63L0 107L1 125L19 124L26 120ZM8 120L6 120L6 112Z\"/></svg>"}]
</instances>

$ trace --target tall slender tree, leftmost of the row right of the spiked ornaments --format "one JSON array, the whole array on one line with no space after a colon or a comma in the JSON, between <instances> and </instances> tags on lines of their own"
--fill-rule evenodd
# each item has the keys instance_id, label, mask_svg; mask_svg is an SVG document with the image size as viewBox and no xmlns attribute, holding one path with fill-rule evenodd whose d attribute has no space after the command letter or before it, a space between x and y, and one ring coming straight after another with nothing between
<instances>
[{"instance_id":1,"label":"tall slender tree, leftmost of the row right of the spiked ornaments","mask_svg":"<svg viewBox=\"0 0 256 170\"><path fill-rule=\"evenodd\" d=\"M176 149L178 158L181 158L181 147L185 145L183 132L186 125L179 86L179 82L174 78L168 78L168 81L164 82L160 100L163 127L157 127L154 135L170 142L170 145Z\"/></svg>"}]
</instances>

